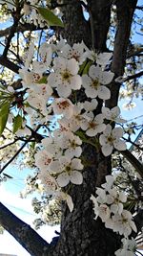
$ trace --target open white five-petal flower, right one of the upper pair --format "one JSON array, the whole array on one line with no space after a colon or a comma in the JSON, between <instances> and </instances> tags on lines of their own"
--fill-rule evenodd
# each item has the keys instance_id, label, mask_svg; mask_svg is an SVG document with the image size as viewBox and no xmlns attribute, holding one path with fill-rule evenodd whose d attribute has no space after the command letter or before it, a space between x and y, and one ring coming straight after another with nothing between
<instances>
[{"instance_id":1,"label":"open white five-petal flower, right one of the upper pair","mask_svg":"<svg viewBox=\"0 0 143 256\"><path fill-rule=\"evenodd\" d=\"M87 97L96 98L98 96L102 100L110 99L111 91L103 84L109 84L112 78L112 72L102 71L101 67L92 65L89 70L89 76L82 76L82 85L85 88Z\"/></svg>"}]
</instances>

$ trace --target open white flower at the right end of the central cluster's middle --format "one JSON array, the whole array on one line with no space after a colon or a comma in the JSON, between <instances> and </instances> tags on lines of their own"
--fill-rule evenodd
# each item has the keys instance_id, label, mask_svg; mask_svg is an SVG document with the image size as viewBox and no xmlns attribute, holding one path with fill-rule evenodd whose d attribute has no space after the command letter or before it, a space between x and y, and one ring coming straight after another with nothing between
<instances>
[{"instance_id":1,"label":"open white flower at the right end of the central cluster's middle","mask_svg":"<svg viewBox=\"0 0 143 256\"><path fill-rule=\"evenodd\" d=\"M106 129L103 131L103 134L101 134L99 137L101 151L105 156L110 155L113 148L115 148L117 151L126 150L126 143L120 139L122 136L122 128L112 129L111 125L107 125Z\"/></svg>"}]
</instances>

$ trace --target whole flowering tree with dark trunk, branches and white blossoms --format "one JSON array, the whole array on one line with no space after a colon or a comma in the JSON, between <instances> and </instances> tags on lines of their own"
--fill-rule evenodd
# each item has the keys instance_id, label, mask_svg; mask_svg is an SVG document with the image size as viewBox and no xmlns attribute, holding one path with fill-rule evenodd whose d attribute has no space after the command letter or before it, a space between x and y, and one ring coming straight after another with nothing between
<instances>
[{"instance_id":1,"label":"whole flowering tree with dark trunk, branches and white blossoms","mask_svg":"<svg viewBox=\"0 0 143 256\"><path fill-rule=\"evenodd\" d=\"M143 172L118 101L141 95L142 50L131 32L142 8L136 0L0 4L11 23L0 31L1 181L10 163L34 169L27 194L58 205L61 231L48 244L2 203L0 224L33 256L134 255Z\"/></svg>"}]
</instances>

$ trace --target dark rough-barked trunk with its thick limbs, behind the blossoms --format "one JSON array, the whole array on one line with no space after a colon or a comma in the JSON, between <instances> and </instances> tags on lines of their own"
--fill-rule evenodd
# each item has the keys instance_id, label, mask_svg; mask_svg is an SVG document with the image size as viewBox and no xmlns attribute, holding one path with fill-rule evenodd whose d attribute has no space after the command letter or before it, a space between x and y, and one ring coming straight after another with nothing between
<instances>
[{"instance_id":1,"label":"dark rough-barked trunk with its thick limbs, behind the blossoms","mask_svg":"<svg viewBox=\"0 0 143 256\"><path fill-rule=\"evenodd\" d=\"M117 29L113 49L112 72L115 77L121 76L124 72L127 47L133 20L133 12L136 0L114 1L117 12ZM64 0L62 12L64 13L65 28L60 33L68 42L84 42L96 51L104 52L107 49L107 35L110 27L111 0L88 0L90 20L86 21L83 16L80 1ZM2 58L0 59L2 60ZM2 63L2 62L1 62ZM2 63L3 64L3 63ZM7 66L7 65L6 65ZM13 69L16 67L13 66ZM112 99L106 105L113 107L117 104L119 84L112 82ZM79 96L80 97L80 96ZM100 106L97 111L100 111ZM99 149L91 145L83 146L83 170L84 182L80 186L72 185L70 194L73 199L74 209L70 213L68 207L63 204L61 234L57 244L52 246L45 244L45 241L32 236L29 232L17 235L18 226L4 220L1 212L0 223L22 244L33 256L113 256L114 250L120 246L120 238L110 229L106 229L102 221L93 220L91 195L95 194L95 187L105 181L105 175L111 174L111 156L105 157ZM6 211L0 204L0 211ZM6 211L7 212L7 211ZM12 218L10 212L8 217ZM19 220L16 219L16 221ZM20 223L21 227L24 223ZM21 233L19 233L21 234ZM27 246L26 237L30 237L31 243ZM23 243L22 243L23 241ZM33 243L35 241L35 247ZM36 244L39 241L39 244ZM45 246L45 250L42 246ZM35 251L36 248L36 251ZM40 253L39 253L40 252Z\"/></svg>"}]
</instances>

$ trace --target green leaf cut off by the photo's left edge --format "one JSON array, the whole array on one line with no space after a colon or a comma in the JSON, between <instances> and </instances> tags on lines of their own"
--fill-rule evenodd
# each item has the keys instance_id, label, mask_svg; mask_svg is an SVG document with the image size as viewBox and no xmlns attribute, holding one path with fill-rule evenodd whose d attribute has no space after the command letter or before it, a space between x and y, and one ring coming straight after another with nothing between
<instances>
[{"instance_id":1,"label":"green leaf cut off by the photo's left edge","mask_svg":"<svg viewBox=\"0 0 143 256\"><path fill-rule=\"evenodd\" d=\"M6 102L0 108L0 136L4 131L4 128L6 128L9 112L10 112L10 102Z\"/></svg>"}]
</instances>

